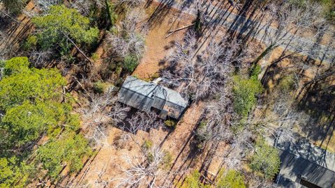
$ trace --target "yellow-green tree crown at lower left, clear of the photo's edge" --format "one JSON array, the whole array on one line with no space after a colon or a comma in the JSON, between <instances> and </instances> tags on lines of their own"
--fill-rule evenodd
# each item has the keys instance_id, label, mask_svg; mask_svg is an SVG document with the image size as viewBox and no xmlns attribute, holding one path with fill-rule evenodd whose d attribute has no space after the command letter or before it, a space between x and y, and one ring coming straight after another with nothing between
<instances>
[{"instance_id":1,"label":"yellow-green tree crown at lower left, clear of the photo's edge","mask_svg":"<svg viewBox=\"0 0 335 188\"><path fill-rule=\"evenodd\" d=\"M68 133L40 146L36 159L43 164L47 175L55 180L65 164L70 173L82 168L82 157L91 155L92 152L87 145L88 141L82 135Z\"/></svg>"}]
</instances>

